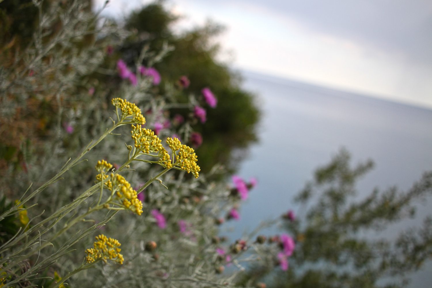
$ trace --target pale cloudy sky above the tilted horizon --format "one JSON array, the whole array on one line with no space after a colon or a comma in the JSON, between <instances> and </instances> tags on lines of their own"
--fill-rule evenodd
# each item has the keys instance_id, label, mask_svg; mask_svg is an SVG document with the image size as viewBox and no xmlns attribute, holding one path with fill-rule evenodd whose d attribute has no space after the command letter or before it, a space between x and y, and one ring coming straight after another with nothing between
<instances>
[{"instance_id":1,"label":"pale cloudy sky above the tilted horizon","mask_svg":"<svg viewBox=\"0 0 432 288\"><path fill-rule=\"evenodd\" d=\"M103 0L96 0L100 7ZM110 0L124 17L148 0ZM220 23L233 68L432 108L430 0L167 0L178 29Z\"/></svg>"}]
</instances>

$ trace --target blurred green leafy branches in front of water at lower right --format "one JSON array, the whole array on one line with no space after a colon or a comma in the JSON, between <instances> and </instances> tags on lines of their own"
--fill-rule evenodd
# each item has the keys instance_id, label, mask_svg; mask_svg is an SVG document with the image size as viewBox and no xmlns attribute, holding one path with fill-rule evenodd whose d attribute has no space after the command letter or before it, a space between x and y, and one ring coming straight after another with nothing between
<instances>
[{"instance_id":1,"label":"blurred green leafy branches in front of water at lower right","mask_svg":"<svg viewBox=\"0 0 432 288\"><path fill-rule=\"evenodd\" d=\"M432 219L398 236L392 232L389 237L389 232L394 231L392 225L414 217L414 200L430 195L432 172L407 192L375 189L359 199L356 181L372 166L366 161L352 168L349 153L342 150L318 168L314 181L296 197L299 216L305 217L283 220L296 241L288 271L254 266L239 283L261 281L272 288L406 287L410 273L432 257Z\"/></svg>"}]
</instances>

